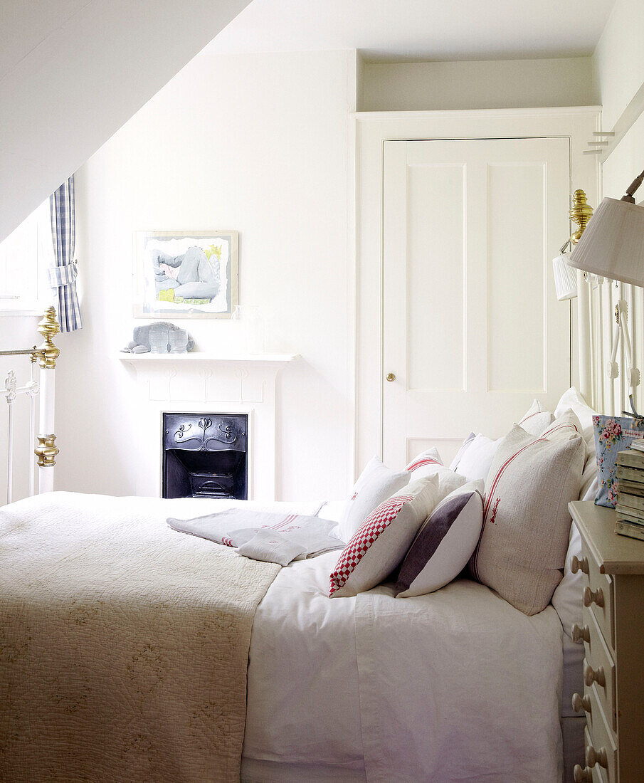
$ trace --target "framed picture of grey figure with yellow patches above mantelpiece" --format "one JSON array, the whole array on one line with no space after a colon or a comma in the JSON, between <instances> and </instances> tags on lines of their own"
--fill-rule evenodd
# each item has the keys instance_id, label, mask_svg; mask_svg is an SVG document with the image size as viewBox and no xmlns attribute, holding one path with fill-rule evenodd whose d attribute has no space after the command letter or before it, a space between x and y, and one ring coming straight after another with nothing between
<instances>
[{"instance_id":1,"label":"framed picture of grey figure with yellow patches above mantelpiece","mask_svg":"<svg viewBox=\"0 0 644 783\"><path fill-rule=\"evenodd\" d=\"M230 318L236 231L135 232L136 318Z\"/></svg>"}]
</instances>

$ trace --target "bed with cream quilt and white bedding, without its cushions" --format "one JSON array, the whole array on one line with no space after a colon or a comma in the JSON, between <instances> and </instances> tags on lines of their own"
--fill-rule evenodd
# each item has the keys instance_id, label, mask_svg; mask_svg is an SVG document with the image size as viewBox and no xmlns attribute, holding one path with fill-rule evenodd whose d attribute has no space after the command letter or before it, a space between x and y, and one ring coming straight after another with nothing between
<instances>
[{"instance_id":1,"label":"bed with cream quilt and white bedding, without its cushions","mask_svg":"<svg viewBox=\"0 0 644 783\"><path fill-rule=\"evenodd\" d=\"M45 491L2 507L2 779L570 779L583 647L560 609L527 615L466 576L329 600L337 551L280 568L166 524L342 505Z\"/></svg>"}]
</instances>

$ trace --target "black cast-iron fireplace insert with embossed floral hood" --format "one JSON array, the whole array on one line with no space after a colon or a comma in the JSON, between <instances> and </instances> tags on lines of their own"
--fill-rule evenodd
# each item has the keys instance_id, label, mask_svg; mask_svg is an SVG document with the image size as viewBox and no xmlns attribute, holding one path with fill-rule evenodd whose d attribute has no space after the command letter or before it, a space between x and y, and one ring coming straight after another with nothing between
<instances>
[{"instance_id":1,"label":"black cast-iron fireplace insert with embossed floral hood","mask_svg":"<svg viewBox=\"0 0 644 783\"><path fill-rule=\"evenodd\" d=\"M164 497L246 500L248 416L163 414Z\"/></svg>"}]
</instances>

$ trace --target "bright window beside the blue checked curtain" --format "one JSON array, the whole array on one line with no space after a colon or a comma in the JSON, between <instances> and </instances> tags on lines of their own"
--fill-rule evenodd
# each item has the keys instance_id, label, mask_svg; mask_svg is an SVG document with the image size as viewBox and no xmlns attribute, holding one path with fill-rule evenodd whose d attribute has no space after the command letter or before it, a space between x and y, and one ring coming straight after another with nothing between
<instances>
[{"instance_id":1,"label":"bright window beside the blue checked curtain","mask_svg":"<svg viewBox=\"0 0 644 783\"><path fill-rule=\"evenodd\" d=\"M54 265L49 198L0 242L0 309L41 310L49 304Z\"/></svg>"}]
</instances>

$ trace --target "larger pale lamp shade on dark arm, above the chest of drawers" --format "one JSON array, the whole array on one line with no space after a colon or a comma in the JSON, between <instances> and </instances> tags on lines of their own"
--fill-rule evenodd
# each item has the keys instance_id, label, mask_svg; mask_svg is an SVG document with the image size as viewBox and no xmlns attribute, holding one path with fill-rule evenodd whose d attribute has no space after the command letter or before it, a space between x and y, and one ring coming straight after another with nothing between
<instances>
[{"instance_id":1,"label":"larger pale lamp shade on dark arm, above the chest of drawers","mask_svg":"<svg viewBox=\"0 0 644 783\"><path fill-rule=\"evenodd\" d=\"M570 254L570 266L644 286L644 207L605 198Z\"/></svg>"}]
</instances>

